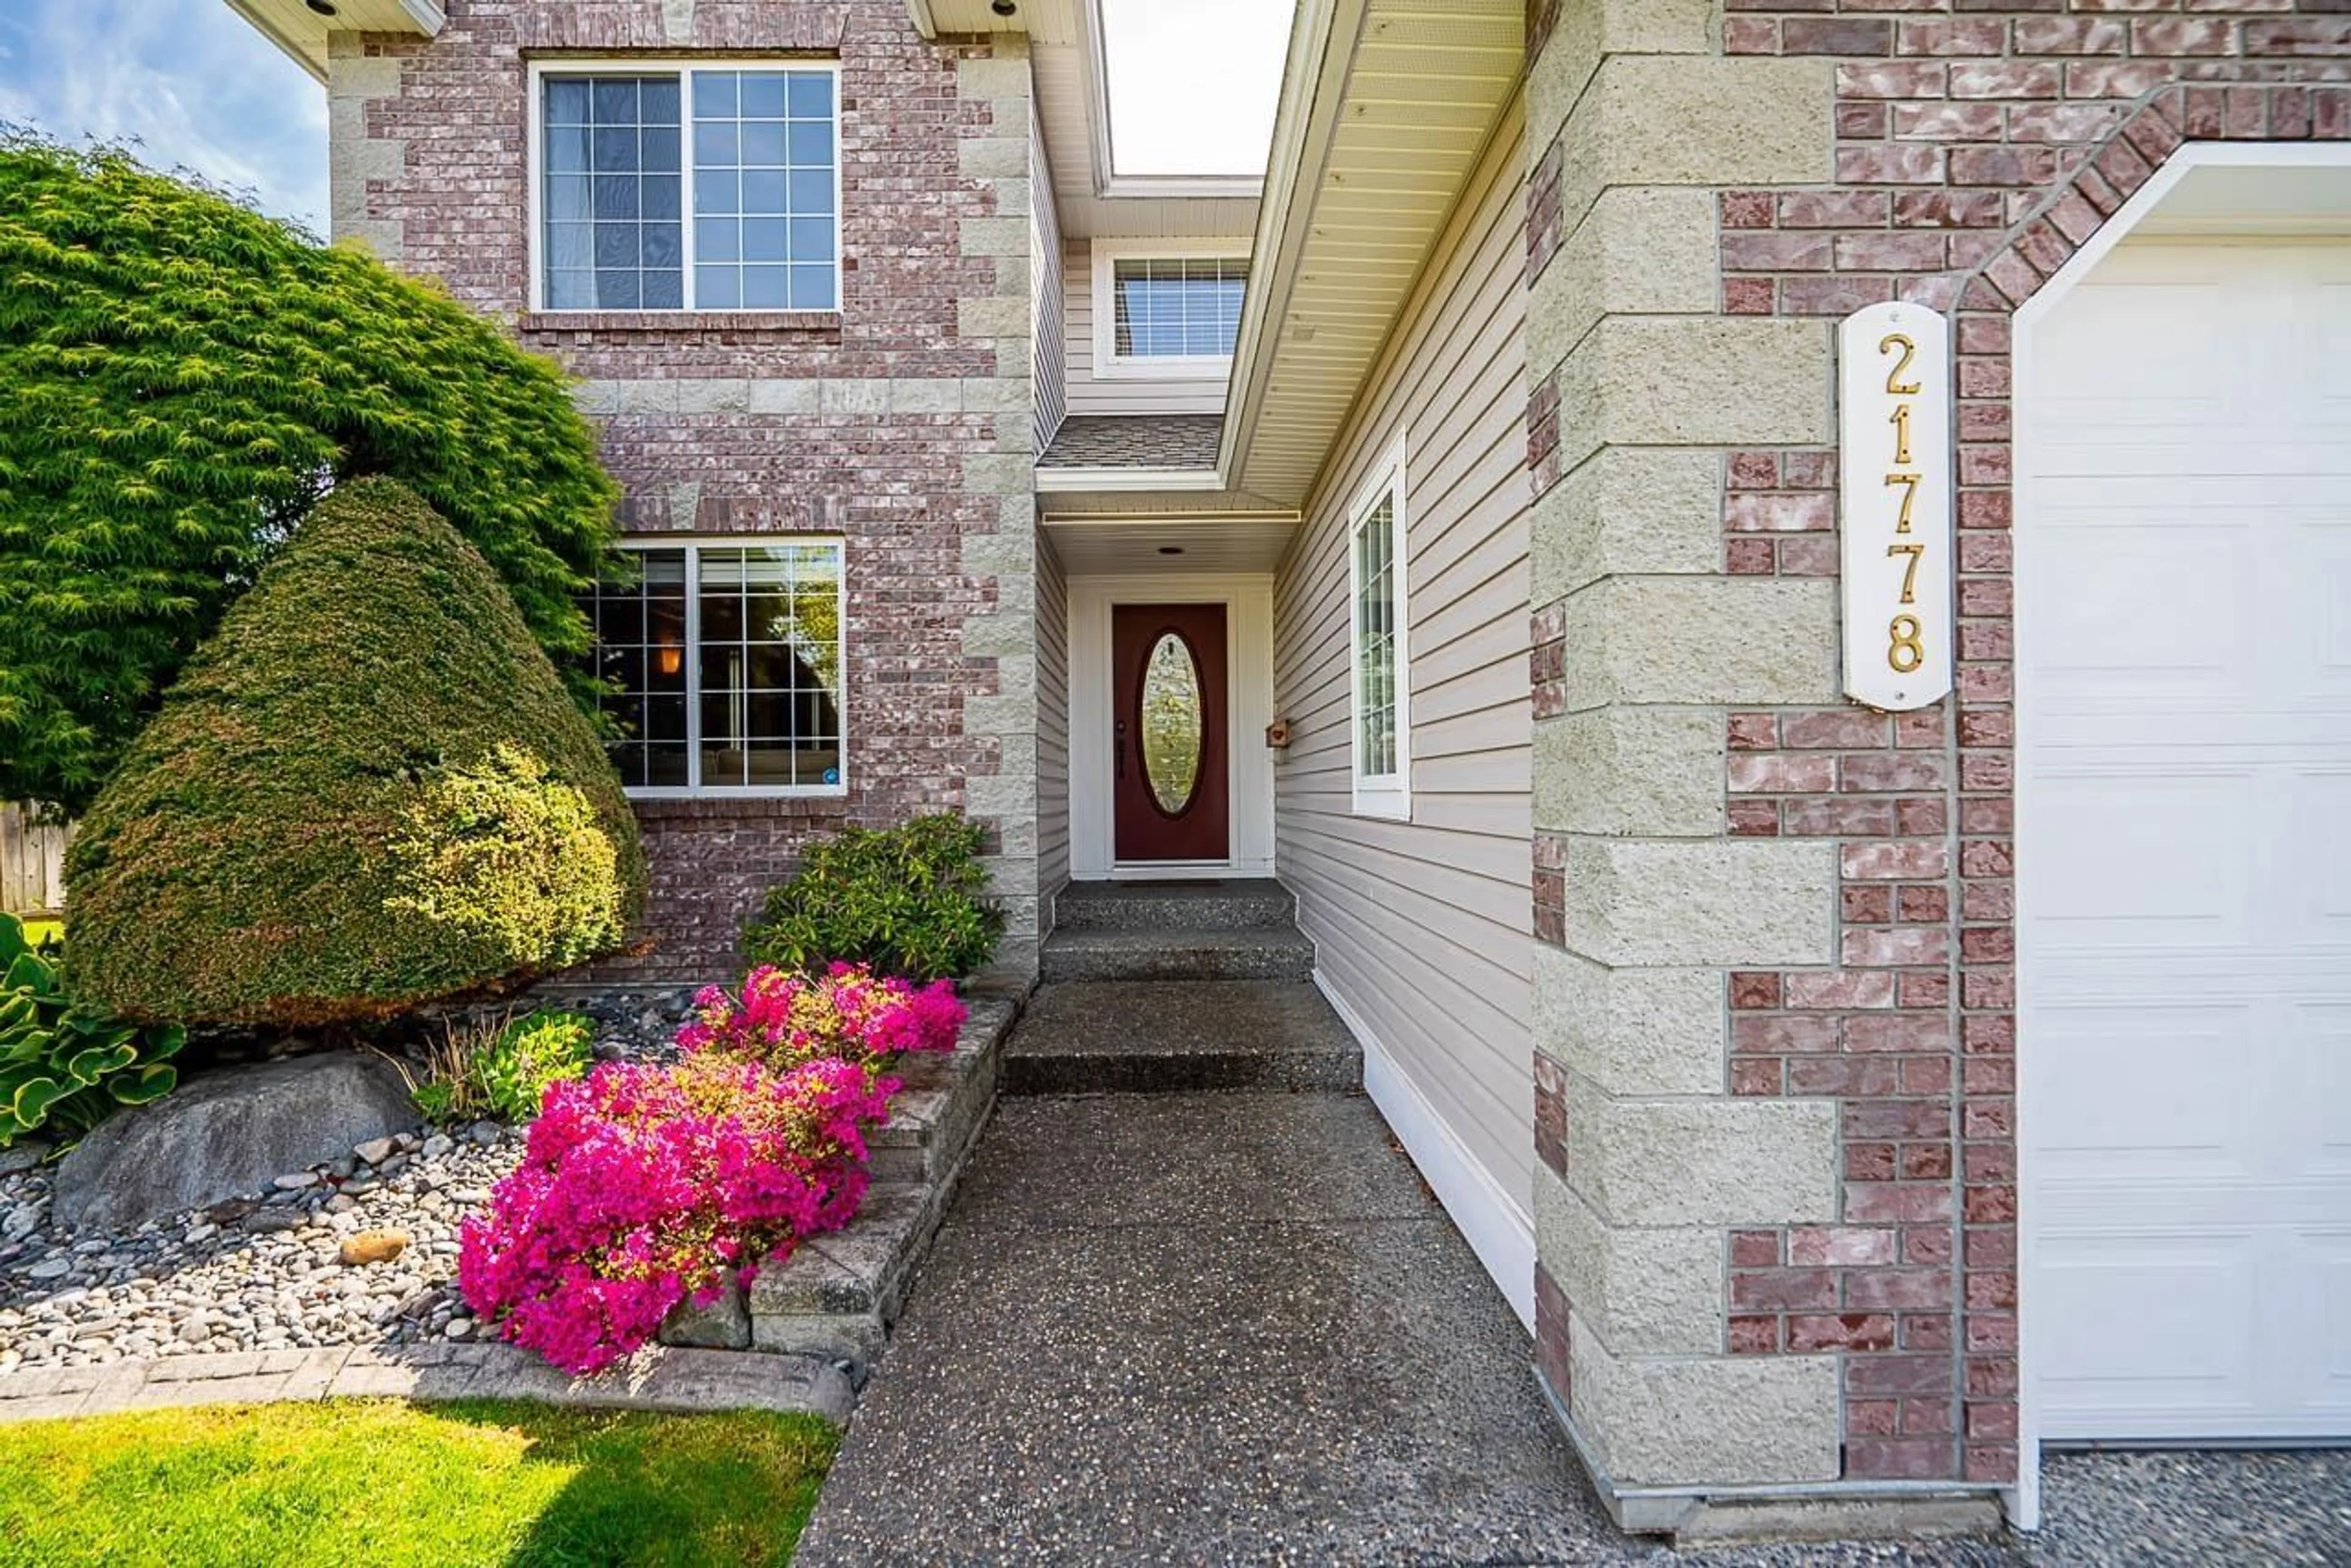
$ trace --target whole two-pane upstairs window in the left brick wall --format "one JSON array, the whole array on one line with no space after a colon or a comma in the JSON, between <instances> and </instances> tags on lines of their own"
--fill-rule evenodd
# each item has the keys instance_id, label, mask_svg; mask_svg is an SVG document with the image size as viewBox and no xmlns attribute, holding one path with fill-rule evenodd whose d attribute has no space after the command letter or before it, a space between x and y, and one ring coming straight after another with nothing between
<instances>
[{"instance_id":1,"label":"whole two-pane upstairs window in the left brick wall","mask_svg":"<svg viewBox=\"0 0 2351 1568\"><path fill-rule=\"evenodd\" d=\"M545 310L837 310L832 66L548 68Z\"/></svg>"}]
</instances>

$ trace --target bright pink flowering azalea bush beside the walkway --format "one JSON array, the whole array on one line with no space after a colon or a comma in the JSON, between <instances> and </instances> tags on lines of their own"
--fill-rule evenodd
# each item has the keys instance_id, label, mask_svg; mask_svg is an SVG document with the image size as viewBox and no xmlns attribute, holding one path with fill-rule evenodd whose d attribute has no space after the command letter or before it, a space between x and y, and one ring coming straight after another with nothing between
<instances>
[{"instance_id":1,"label":"bright pink flowering azalea bush beside the walkway","mask_svg":"<svg viewBox=\"0 0 2351 1568\"><path fill-rule=\"evenodd\" d=\"M844 1227L865 1199L865 1135L889 1119L903 1051L952 1051L966 1009L851 966L757 969L712 987L677 1065L604 1065L552 1084L522 1164L468 1215L458 1288L496 1333L595 1373L701 1305Z\"/></svg>"}]
</instances>

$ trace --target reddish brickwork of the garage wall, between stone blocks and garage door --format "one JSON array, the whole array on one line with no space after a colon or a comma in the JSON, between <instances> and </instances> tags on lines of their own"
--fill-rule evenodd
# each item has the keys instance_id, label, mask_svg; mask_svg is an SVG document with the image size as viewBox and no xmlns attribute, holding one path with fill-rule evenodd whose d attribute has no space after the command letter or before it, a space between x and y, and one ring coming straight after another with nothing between
<instances>
[{"instance_id":1,"label":"reddish brickwork of the garage wall, between stone blocks and garage door","mask_svg":"<svg viewBox=\"0 0 2351 1568\"><path fill-rule=\"evenodd\" d=\"M1613 9L1566 0L1549 12ZM2182 143L2351 139L2342 0L1956 5L1728 0L1728 59L1829 56L1829 179L1716 183L1714 310L1820 320L1907 299L1956 327L1958 675L1914 715L1723 708L1723 835L1824 844L1824 964L1728 966L1726 1093L1829 1100L1827 1222L1726 1234L1723 1349L1838 1359L1838 1479L2017 1474L2010 313ZM1535 33L1559 28L1556 14ZM1535 148L1533 270L1554 263L1559 146ZM1704 179L1695 183L1709 183ZM1561 397L1531 388L1538 489L1561 482ZM1733 581L1836 576L1834 444L1721 447ZM1568 708L1568 621L1538 604L1538 717ZM1575 943L1568 837L1538 846L1535 929ZM1559 1074L1538 1150L1566 1175ZM1559 1262L1545 1258L1545 1281ZM1556 1293L1556 1286L1554 1286ZM1559 1312L1575 1309L1563 1300ZM1549 1373L1549 1366L1545 1366ZM1554 1378L1554 1392L1566 1387Z\"/></svg>"}]
</instances>

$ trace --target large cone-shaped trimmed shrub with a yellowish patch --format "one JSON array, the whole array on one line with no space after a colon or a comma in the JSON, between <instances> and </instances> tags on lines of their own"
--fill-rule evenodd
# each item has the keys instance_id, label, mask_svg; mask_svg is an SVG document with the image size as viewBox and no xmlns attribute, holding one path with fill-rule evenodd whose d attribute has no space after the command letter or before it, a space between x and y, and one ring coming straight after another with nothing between
<instances>
[{"instance_id":1,"label":"large cone-shaped trimmed shrub with a yellowish patch","mask_svg":"<svg viewBox=\"0 0 2351 1568\"><path fill-rule=\"evenodd\" d=\"M66 851L75 985L339 1023L614 952L644 856L496 574L390 480L322 501Z\"/></svg>"}]
</instances>

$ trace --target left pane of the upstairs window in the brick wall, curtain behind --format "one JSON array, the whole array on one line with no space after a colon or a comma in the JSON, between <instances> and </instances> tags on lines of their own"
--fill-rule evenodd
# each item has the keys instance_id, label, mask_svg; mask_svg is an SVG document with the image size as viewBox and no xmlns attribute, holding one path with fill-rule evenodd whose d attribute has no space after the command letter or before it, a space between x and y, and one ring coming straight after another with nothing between
<instances>
[{"instance_id":1,"label":"left pane of the upstairs window in the brick wall, curtain behind","mask_svg":"<svg viewBox=\"0 0 2351 1568\"><path fill-rule=\"evenodd\" d=\"M545 78L550 310L677 310L684 190L675 75Z\"/></svg>"}]
</instances>

